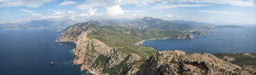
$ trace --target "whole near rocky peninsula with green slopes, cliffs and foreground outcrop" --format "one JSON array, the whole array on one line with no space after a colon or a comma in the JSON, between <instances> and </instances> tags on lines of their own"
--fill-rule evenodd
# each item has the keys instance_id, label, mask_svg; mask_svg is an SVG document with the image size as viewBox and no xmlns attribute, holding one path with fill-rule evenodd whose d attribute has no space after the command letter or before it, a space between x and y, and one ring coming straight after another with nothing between
<instances>
[{"instance_id":1,"label":"whole near rocky peninsula with green slopes, cliffs and foreground outcrop","mask_svg":"<svg viewBox=\"0 0 256 75\"><path fill-rule=\"evenodd\" d=\"M133 30L79 23L64 29L62 34L58 38L60 42L76 43L73 64L81 65L81 71L88 70L97 75L256 74L255 66L240 67L207 53L159 52L151 47L134 45L151 38L193 37L175 30Z\"/></svg>"}]
</instances>

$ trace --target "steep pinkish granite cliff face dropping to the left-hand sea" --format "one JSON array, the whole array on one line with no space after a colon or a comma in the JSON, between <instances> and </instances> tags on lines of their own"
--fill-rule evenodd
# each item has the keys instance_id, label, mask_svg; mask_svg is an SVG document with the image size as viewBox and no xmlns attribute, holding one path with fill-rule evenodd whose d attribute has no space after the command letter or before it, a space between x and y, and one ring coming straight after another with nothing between
<instances>
[{"instance_id":1,"label":"steep pinkish granite cliff face dropping to the left-hand sea","mask_svg":"<svg viewBox=\"0 0 256 75\"><path fill-rule=\"evenodd\" d=\"M134 61L142 59L136 54L125 54L119 51L118 48L110 47L96 39L88 39L86 36L86 31L83 31L77 37L76 48L73 50L76 55L73 64L82 65L80 67L81 71L87 70L89 72L94 72L97 75L101 75L106 74L102 72L105 64L107 68L111 68L119 65L122 61L131 64ZM130 70L127 70L130 71L127 75L137 73L139 70L136 68L137 65L133 66L134 67L131 67Z\"/></svg>"}]
</instances>

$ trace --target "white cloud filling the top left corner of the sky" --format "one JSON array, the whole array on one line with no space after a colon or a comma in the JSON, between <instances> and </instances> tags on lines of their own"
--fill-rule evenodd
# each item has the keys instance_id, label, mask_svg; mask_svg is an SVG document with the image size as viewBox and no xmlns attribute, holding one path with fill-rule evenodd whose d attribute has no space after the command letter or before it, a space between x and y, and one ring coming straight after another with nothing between
<instances>
[{"instance_id":1,"label":"white cloud filling the top left corner of the sky","mask_svg":"<svg viewBox=\"0 0 256 75\"><path fill-rule=\"evenodd\" d=\"M0 0L0 7L40 7L53 0Z\"/></svg>"}]
</instances>

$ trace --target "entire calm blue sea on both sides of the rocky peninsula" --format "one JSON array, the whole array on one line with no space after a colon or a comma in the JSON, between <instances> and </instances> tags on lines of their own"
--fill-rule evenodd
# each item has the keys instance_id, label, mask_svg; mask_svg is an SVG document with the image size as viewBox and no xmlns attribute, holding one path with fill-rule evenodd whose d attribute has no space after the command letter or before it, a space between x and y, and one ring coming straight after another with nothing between
<instances>
[{"instance_id":1,"label":"entire calm blue sea on both sides of the rocky peninsula","mask_svg":"<svg viewBox=\"0 0 256 75\"><path fill-rule=\"evenodd\" d=\"M50 44L61 33L59 29L0 30L0 74L60 74L81 75L80 65L72 65L74 59L72 42L61 42L62 46ZM207 35L194 35L194 39L150 40L142 46L157 50L182 50L186 52L256 52L256 28L217 28ZM244 35L244 37L243 37ZM59 44L59 43L58 43ZM51 65L51 61L58 64Z\"/></svg>"}]
</instances>

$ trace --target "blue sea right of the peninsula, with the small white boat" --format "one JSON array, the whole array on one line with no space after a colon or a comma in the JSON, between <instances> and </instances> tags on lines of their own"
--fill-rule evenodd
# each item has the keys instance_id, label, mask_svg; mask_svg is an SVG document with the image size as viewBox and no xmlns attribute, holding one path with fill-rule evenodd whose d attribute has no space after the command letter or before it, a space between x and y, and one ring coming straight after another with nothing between
<instances>
[{"instance_id":1,"label":"blue sea right of the peninsula, with the small white boat","mask_svg":"<svg viewBox=\"0 0 256 75\"><path fill-rule=\"evenodd\" d=\"M243 26L243 28L216 28L208 31L220 31L220 33L208 33L206 35L192 34L194 39L184 40L149 40L139 45L153 47L159 51L182 50L188 53L207 52L214 54L217 52L256 52L255 26L256 25Z\"/></svg>"}]
</instances>

